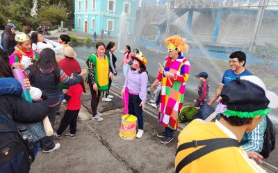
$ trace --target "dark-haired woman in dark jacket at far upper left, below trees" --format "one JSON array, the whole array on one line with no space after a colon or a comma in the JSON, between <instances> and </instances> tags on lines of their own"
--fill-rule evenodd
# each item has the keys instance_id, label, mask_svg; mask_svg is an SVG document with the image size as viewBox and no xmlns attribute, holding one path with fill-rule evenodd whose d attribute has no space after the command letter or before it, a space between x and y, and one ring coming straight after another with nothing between
<instances>
[{"instance_id":1,"label":"dark-haired woman in dark jacket at far upper left, below trees","mask_svg":"<svg viewBox=\"0 0 278 173\"><path fill-rule=\"evenodd\" d=\"M8 53L8 55L12 55L13 51L15 51L15 46L17 45L15 42L15 25L7 25L5 27L5 33L2 35L1 41L3 51Z\"/></svg>"}]
</instances>

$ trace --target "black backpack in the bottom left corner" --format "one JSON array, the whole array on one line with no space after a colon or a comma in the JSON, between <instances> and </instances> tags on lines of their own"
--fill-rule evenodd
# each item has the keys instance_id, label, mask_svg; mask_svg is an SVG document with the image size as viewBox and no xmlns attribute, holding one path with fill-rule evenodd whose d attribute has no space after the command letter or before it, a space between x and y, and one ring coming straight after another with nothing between
<instances>
[{"instance_id":1,"label":"black backpack in the bottom left corner","mask_svg":"<svg viewBox=\"0 0 278 173\"><path fill-rule=\"evenodd\" d=\"M33 154L11 119L0 113L0 172L29 172Z\"/></svg>"}]
</instances>

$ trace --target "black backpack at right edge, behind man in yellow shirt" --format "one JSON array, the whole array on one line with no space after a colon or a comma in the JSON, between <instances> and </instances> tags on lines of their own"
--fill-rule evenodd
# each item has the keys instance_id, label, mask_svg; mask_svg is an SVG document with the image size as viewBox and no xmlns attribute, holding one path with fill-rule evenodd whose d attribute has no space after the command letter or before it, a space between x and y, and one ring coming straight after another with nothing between
<instances>
[{"instance_id":1,"label":"black backpack at right edge, behind man in yellow shirt","mask_svg":"<svg viewBox=\"0 0 278 173\"><path fill-rule=\"evenodd\" d=\"M265 133L263 134L263 149L260 152L263 158L268 158L270 152L272 152L272 150L275 149L275 136L276 132L273 127L273 124L270 118L266 116L266 129Z\"/></svg>"}]
</instances>

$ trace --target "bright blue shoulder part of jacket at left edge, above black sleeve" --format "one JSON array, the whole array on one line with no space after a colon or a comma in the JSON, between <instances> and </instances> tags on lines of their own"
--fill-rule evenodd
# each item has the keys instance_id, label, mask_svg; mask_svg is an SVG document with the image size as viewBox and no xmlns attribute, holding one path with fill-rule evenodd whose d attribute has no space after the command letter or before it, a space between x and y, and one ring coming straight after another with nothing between
<instances>
[{"instance_id":1,"label":"bright blue shoulder part of jacket at left edge, above black sleeve","mask_svg":"<svg viewBox=\"0 0 278 173\"><path fill-rule=\"evenodd\" d=\"M22 96L22 84L15 78L0 78L0 95Z\"/></svg>"}]
</instances>

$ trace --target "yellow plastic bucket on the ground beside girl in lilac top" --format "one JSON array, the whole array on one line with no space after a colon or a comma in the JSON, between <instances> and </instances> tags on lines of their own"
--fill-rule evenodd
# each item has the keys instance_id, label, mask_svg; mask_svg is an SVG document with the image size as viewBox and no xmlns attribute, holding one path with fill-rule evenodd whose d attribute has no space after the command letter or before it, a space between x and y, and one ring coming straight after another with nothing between
<instances>
[{"instance_id":1,"label":"yellow plastic bucket on the ground beside girl in lilac top","mask_svg":"<svg viewBox=\"0 0 278 173\"><path fill-rule=\"evenodd\" d=\"M119 135L124 140L133 140L136 137L137 118L133 115L122 116Z\"/></svg>"}]
</instances>

